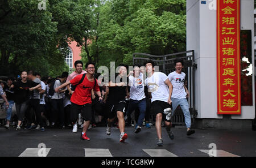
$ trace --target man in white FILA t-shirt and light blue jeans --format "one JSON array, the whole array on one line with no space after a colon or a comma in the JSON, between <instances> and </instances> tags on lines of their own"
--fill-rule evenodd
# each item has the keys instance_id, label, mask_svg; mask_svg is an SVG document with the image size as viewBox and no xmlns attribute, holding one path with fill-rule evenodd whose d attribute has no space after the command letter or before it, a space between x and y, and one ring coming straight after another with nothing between
<instances>
[{"instance_id":1,"label":"man in white FILA t-shirt and light blue jeans","mask_svg":"<svg viewBox=\"0 0 256 168\"><path fill-rule=\"evenodd\" d=\"M174 115L174 111L178 105L180 105L184 117L185 117L185 124L187 126L187 135L191 135L195 133L195 130L191 130L191 115L189 112L189 106L187 101L187 96L189 96L188 89L184 85L185 76L186 74L182 71L183 68L183 61L176 60L175 62L175 71L171 72L168 75L168 79L171 81L172 86L174 87L172 90L172 110Z\"/></svg>"}]
</instances>

